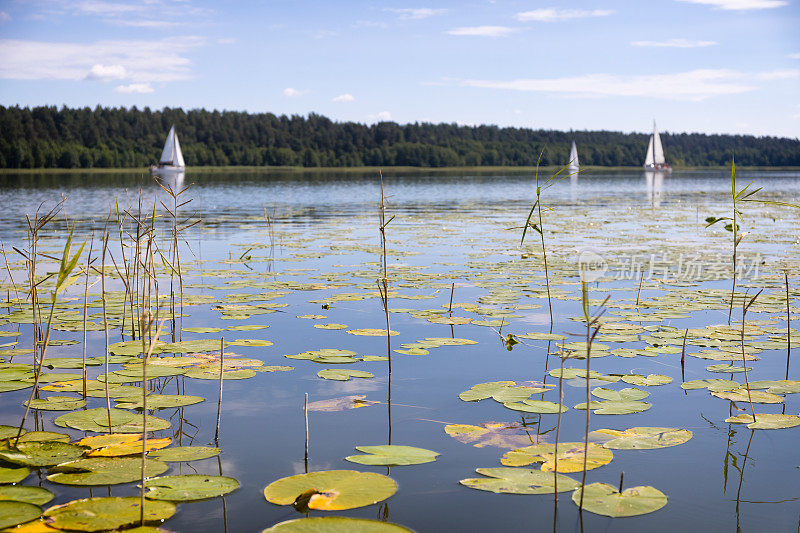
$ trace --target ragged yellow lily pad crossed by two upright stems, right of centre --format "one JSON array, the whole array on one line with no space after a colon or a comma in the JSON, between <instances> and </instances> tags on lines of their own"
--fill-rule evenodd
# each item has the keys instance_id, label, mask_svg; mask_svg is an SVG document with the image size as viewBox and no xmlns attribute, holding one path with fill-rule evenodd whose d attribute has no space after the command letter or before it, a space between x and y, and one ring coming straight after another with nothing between
<instances>
[{"instance_id":1,"label":"ragged yellow lily pad crossed by two upright stems, right of centre","mask_svg":"<svg viewBox=\"0 0 800 533\"><path fill-rule=\"evenodd\" d=\"M559 442L557 448L555 444L534 444L506 452L500 462L506 466L542 463L542 470L552 472L555 469L557 454L559 472L582 472L583 449L583 442ZM607 465L613 458L611 450L590 442L586 455L586 470Z\"/></svg>"}]
</instances>

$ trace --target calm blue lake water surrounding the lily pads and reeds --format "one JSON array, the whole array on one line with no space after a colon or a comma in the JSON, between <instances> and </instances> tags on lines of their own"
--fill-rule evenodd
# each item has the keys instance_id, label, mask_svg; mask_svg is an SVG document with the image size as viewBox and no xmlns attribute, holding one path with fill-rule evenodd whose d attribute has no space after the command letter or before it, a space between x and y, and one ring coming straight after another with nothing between
<instances>
[{"instance_id":1,"label":"calm blue lake water surrounding the lily pads and reeds","mask_svg":"<svg viewBox=\"0 0 800 533\"><path fill-rule=\"evenodd\" d=\"M759 198L800 202L800 172L737 173L739 188L750 181L754 182L752 188L763 187ZM169 463L167 474L222 473L235 477L241 487L224 498L180 504L176 515L164 524L166 529L256 532L302 517L289 506L268 503L263 489L279 478L305 471L305 393L310 402L349 395L364 395L367 400L380 402L359 409L309 413L309 471L373 471L389 475L399 486L382 504L329 514L386 518L420 532L539 531L553 527L552 495L494 494L459 484L461 479L480 477L475 474L478 467L501 466L500 458L510 448L475 447L444 431L446 424L498 421L519 424L532 442L555 440L554 414L511 410L491 398L478 402L459 399L459 393L490 381L558 383L550 372L559 368L559 360L548 355L548 349L558 352L562 341L548 343L523 337L518 338L522 343L511 351L502 342L508 333L550 331L539 235L530 230L524 246L520 246L522 226L535 202L531 176L384 174L387 218L395 217L386 227L392 291L389 308L394 311L390 313L391 329L399 333L391 338L392 349L432 337L476 342L431 348L427 355L393 352L391 382L386 361L327 365L284 357L323 348L351 350L359 358L387 354L386 337L346 333L357 328L386 327L381 302L375 294L376 280L382 275L380 182L376 176L231 171L189 174L182 183L190 185L184 198L192 201L181 209L181 218L185 216L189 222L201 220L185 232L181 248L187 266L186 293L213 299L187 307L183 327L269 326L254 331L184 332L183 339L224 336L226 341L269 340L274 345L230 346L227 350L261 360L265 365L289 365L294 369L224 381L220 459ZM715 397L706 389L680 387L680 351L686 329L690 330L683 369L686 381L720 378L744 383L741 373L707 370L709 365L726 360L693 355L716 350L724 357L725 347L729 348L728 353L737 353L732 348L736 340L731 331L707 328L728 323L731 234L723 224L706 228L705 219L730 216L730 186L729 172L676 171L669 176L647 176L629 171L581 174L579 178L559 181L543 193L542 201L548 206L543 211L543 226L551 269L552 332L565 335L564 343L584 340L579 265L588 263L592 309L599 310L608 296L604 319L628 324L633 335L638 335L626 340L613 336L604 339L612 332L601 328L596 342L605 348L593 351L608 353L592 358L592 369L605 375L658 374L672 379L666 385L638 387L649 393L644 399L651 404L648 410L624 415L592 414L590 429L653 426L683 428L693 433L691 440L679 446L613 450L614 458L609 464L588 471L587 483L615 486L624 472L625 488L653 486L667 495L668 503L659 511L632 518L608 518L584 511L585 531L800 530L800 427L750 430L745 424L726 422L730 416L748 413L747 402ZM61 195L68 197L64 208L42 240L42 251L47 253L60 253L65 229L72 224L78 241L90 238L93 232L98 238L117 204L121 210L136 213L141 198L142 212L150 213L154 201L168 202L167 195L140 172L0 175L0 239L17 284L23 282L24 274L19 256L11 248L26 245L25 215L32 214L39 205L44 206L43 210L49 209ZM155 209L159 216L166 214L161 205L156 204ZM748 378L781 380L787 372L783 275L787 269L791 319L800 320L800 309L795 307L800 297L800 211L754 203L743 204L741 209L741 231L750 233L738 250L737 290L752 297L763 289L747 313L748 327L755 329L748 329L746 343L773 341L758 349L758 360L748 361L748 367L752 367ZM168 220L166 216L159 220L159 238L168 246ZM113 220L111 227L111 248L119 261ZM42 266L40 273L52 271L54 265L49 267ZM13 296L8 281L7 272L0 274L4 292ZM119 280L109 283L113 290L122 288ZM452 294L451 284L455 284ZM162 291L168 285L167 276L160 284ZM79 309L81 291L70 294L81 296L77 301ZM98 291L99 285L89 289L94 299ZM264 293L269 293L269 300L253 303L286 305L274 306L274 312L268 314L233 320L215 308L235 302L235 298L229 298L231 294ZM366 297L343 299L339 297L342 293ZM452 315L472 319L478 325L451 326L428 320L449 317L451 298ZM740 301L731 322L739 327ZM90 312L98 309L91 308ZM301 315L325 318L297 318ZM0 314L0 324L3 322L8 321ZM347 327L314 327L330 323ZM711 336L704 336L701 329ZM29 324L7 323L0 325L0 330L19 330L19 347L32 343ZM82 333L56 331L53 337L81 340ZM110 342L122 339L119 328L112 330ZM795 340L800 340L800 331L793 329L792 342ZM5 338L0 338L2 342ZM773 347L780 342L782 347ZM89 332L88 343L88 355L103 354L102 331ZM649 353L635 357L611 353L620 348L648 346L652 348ZM798 357L799 351L792 350L792 359ZM79 344L48 350L50 357L80 353ZM30 362L31 358L17 356L14 361ZM732 364L741 366L741 357ZM585 368L585 360L568 359L565 367ZM365 370L374 377L344 382L321 379L317 372L325 368ZM91 377L98 373L90 370ZM791 361L788 379L800 379L800 362ZM156 415L170 420L172 427L155 435L172 437L176 444L184 446L213 445L217 381L172 377L160 378L158 383L159 387L164 386L164 392L175 394L180 390L206 401L158 411ZM573 406L585 401L584 384L580 378L564 381L563 404L568 410L562 415L560 442L583 440L585 411ZM619 390L633 385L593 380L591 387L598 386ZM387 403L390 388L391 405ZM26 389L0 394L0 424L19 424L22 403L29 393ZM782 403L756 404L756 413L797 415L798 396L785 394L781 395ZM550 390L533 398L557 401L558 396L557 391ZM90 398L88 407L104 404L104 399ZM26 427L33 429L36 424L40 429L67 432L76 439L84 435L53 424L63 412L39 413L35 422L29 418ZM387 443L416 446L441 455L435 462L388 469L344 459L355 453L356 446ZM534 464L526 468L536 467ZM56 494L45 508L90 495L138 494L135 483L90 490L50 483L45 473L44 469L40 474L34 472L22 483L40 485ZM580 472L568 475L580 481ZM563 492L559 497L559 531L581 529L578 509L570 494ZM323 514L312 512L312 516Z\"/></svg>"}]
</instances>

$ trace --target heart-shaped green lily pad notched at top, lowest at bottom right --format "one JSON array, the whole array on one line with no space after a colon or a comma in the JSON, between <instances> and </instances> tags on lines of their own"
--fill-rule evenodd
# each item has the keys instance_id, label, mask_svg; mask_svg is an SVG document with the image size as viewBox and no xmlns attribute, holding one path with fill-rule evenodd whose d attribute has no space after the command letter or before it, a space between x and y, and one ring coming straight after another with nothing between
<instances>
[{"instance_id":1,"label":"heart-shaped green lily pad notched at top, lowest at bottom right","mask_svg":"<svg viewBox=\"0 0 800 533\"><path fill-rule=\"evenodd\" d=\"M619 492L608 483L591 483L572 493L579 505L583 490L583 508L590 513L611 516L637 516L658 511L667 505L667 496L654 487L631 487Z\"/></svg>"}]
</instances>

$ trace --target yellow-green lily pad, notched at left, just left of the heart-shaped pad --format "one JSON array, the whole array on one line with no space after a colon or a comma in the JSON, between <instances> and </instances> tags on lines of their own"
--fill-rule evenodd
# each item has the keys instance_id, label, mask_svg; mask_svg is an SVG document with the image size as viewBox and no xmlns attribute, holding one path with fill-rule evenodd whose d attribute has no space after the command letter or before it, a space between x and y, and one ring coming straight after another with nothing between
<instances>
[{"instance_id":1,"label":"yellow-green lily pad, notched at left, just left of the heart-shaped pad","mask_svg":"<svg viewBox=\"0 0 800 533\"><path fill-rule=\"evenodd\" d=\"M468 478L459 481L471 489L485 490L498 494L552 494L555 492L555 477L558 477L558 491L575 490L580 483L563 474L551 474L527 468L476 468L483 478Z\"/></svg>"}]
</instances>

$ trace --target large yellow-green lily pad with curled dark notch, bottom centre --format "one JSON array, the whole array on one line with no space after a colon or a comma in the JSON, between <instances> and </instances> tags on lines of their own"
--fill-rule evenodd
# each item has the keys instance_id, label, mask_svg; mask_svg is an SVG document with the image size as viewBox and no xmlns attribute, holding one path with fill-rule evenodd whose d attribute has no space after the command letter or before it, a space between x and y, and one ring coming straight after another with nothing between
<instances>
[{"instance_id":1,"label":"large yellow-green lily pad with curled dark notch, bottom centre","mask_svg":"<svg viewBox=\"0 0 800 533\"><path fill-rule=\"evenodd\" d=\"M397 491L390 477L373 472L324 470L289 476L264 489L268 502L298 509L338 511L372 505Z\"/></svg>"}]
</instances>

